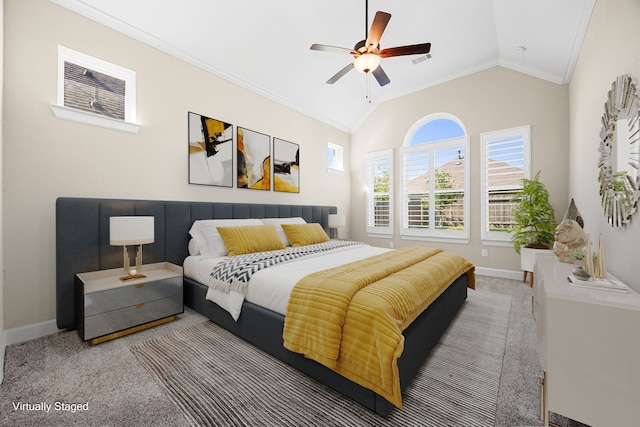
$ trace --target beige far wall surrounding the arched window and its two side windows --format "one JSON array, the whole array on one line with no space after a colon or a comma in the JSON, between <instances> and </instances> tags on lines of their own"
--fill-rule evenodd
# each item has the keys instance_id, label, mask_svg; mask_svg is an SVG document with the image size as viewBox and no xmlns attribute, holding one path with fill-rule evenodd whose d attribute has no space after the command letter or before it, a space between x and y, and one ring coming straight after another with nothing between
<instances>
[{"instance_id":1,"label":"beige far wall surrounding the arched window and its two side windows","mask_svg":"<svg viewBox=\"0 0 640 427\"><path fill-rule=\"evenodd\" d=\"M444 112L463 123L470 136L471 241L469 244L428 243L399 238L400 152L404 137L421 118ZM365 234L365 156L367 152L394 149L395 247L435 245L465 256L478 267L520 270L520 258L512 247L483 246L480 241L480 134L531 125L532 170L551 193L556 217L568 206L569 96L567 85L557 85L495 67L381 105L351 140L351 232L352 237L388 246L388 239ZM489 257L482 257L482 249Z\"/></svg>"}]
</instances>

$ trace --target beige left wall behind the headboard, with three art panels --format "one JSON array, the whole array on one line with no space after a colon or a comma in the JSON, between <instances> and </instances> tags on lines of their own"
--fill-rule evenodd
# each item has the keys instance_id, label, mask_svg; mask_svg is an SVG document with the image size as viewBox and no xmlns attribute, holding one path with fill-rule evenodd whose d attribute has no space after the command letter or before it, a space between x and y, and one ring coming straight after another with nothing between
<instances>
[{"instance_id":1,"label":"beige left wall behind the headboard, with three art panels","mask_svg":"<svg viewBox=\"0 0 640 427\"><path fill-rule=\"evenodd\" d=\"M349 134L51 2L5 0L4 17L6 329L55 318L59 196L331 204L349 215ZM136 72L139 134L54 117L58 44ZM299 143L300 194L189 185L188 111ZM326 172L327 141L345 147L342 176Z\"/></svg>"}]
</instances>

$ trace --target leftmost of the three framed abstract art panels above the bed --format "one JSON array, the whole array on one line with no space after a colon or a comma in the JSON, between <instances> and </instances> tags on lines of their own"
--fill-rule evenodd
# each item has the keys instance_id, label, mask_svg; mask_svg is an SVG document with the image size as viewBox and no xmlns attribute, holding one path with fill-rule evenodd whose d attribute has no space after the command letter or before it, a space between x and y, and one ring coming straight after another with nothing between
<instances>
[{"instance_id":1,"label":"leftmost of the three framed abstract art panels above the bed","mask_svg":"<svg viewBox=\"0 0 640 427\"><path fill-rule=\"evenodd\" d=\"M233 126L189 112L189 184L233 187Z\"/></svg>"}]
</instances>

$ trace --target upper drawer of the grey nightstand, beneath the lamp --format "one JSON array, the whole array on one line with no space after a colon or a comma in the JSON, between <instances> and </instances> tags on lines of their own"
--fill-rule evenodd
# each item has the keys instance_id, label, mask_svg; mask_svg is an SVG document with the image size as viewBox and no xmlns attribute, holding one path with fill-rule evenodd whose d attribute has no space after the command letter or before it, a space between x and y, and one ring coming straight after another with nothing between
<instances>
[{"instance_id":1,"label":"upper drawer of the grey nightstand, beneath the lamp","mask_svg":"<svg viewBox=\"0 0 640 427\"><path fill-rule=\"evenodd\" d=\"M84 295L84 315L93 316L181 294L181 276L92 292Z\"/></svg>"}]
</instances>

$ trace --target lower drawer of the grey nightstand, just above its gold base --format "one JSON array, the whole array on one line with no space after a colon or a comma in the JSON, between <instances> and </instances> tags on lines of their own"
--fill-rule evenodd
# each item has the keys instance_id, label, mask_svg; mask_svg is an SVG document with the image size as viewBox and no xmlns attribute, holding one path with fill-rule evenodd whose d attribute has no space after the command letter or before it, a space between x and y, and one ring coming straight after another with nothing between
<instances>
[{"instance_id":1,"label":"lower drawer of the grey nightstand, just above its gold base","mask_svg":"<svg viewBox=\"0 0 640 427\"><path fill-rule=\"evenodd\" d=\"M182 291L182 289L180 289ZM169 298L139 303L84 319L84 340L142 325L183 312L182 293Z\"/></svg>"}]
</instances>

